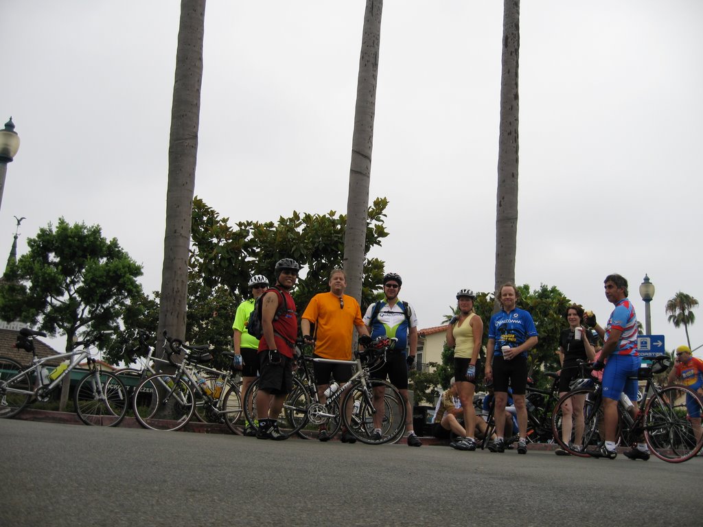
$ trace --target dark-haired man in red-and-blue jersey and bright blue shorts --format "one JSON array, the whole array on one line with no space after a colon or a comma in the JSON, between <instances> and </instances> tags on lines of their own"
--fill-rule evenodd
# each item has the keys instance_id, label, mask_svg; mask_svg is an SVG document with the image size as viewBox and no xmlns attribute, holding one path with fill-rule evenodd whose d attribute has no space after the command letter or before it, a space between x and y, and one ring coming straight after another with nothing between
<instances>
[{"instance_id":1,"label":"dark-haired man in red-and-blue jersey and bright blue shorts","mask_svg":"<svg viewBox=\"0 0 703 527\"><path fill-rule=\"evenodd\" d=\"M615 439L617 436L617 402L622 393L637 401L637 372L640 358L637 354L637 315L632 302L627 298L627 280L621 275L607 275L605 298L615 308L605 325L605 330L596 324L593 328L603 339L600 357L593 364L593 369L603 370L602 401L605 428L605 444L600 448L586 450L593 457L606 457L614 460L617 456ZM628 377L634 377L630 379ZM631 414L636 416L637 408L633 406ZM625 453L632 460L650 458L647 444L643 441L637 447Z\"/></svg>"}]
</instances>

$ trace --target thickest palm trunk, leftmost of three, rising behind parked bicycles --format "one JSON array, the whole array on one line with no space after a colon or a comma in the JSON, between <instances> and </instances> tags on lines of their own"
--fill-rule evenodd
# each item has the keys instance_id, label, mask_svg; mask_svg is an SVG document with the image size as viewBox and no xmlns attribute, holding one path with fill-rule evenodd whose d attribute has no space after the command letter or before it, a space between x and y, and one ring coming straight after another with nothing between
<instances>
[{"instance_id":1,"label":"thickest palm trunk, leftmost of three, rising behind parked bicycles","mask_svg":"<svg viewBox=\"0 0 703 527\"><path fill-rule=\"evenodd\" d=\"M188 249L198 157L204 32L205 0L181 0L169 138L159 339L162 339L163 330L167 330L174 338L183 339L186 336Z\"/></svg>"}]
</instances>

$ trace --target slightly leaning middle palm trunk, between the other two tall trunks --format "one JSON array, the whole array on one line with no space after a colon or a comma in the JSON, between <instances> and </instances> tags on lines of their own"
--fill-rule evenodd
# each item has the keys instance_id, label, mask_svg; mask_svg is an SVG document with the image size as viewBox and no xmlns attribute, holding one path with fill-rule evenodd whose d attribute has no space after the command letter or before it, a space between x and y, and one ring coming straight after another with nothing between
<instances>
[{"instance_id":1,"label":"slightly leaning middle palm trunk, between the other two tall trunks","mask_svg":"<svg viewBox=\"0 0 703 527\"><path fill-rule=\"evenodd\" d=\"M352 137L352 164L349 169L347 227L344 233L344 271L347 293L361 302L363 258L366 254L368 186L371 178L373 119L376 112L376 79L381 39L382 0L366 0L356 82L356 111Z\"/></svg>"}]
</instances>

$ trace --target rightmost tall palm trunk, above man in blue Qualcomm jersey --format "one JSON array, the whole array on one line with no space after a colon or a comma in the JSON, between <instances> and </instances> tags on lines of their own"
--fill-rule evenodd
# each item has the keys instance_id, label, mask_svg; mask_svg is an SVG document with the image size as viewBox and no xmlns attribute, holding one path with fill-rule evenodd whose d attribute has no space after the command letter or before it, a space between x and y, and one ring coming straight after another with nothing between
<instances>
[{"instance_id":1,"label":"rightmost tall palm trunk, above man in blue Qualcomm jersey","mask_svg":"<svg viewBox=\"0 0 703 527\"><path fill-rule=\"evenodd\" d=\"M517 124L520 98L517 66L520 54L520 0L503 1L501 59L501 124L498 137L498 194L496 196L496 291L515 282L517 247ZM498 295L494 311L500 309Z\"/></svg>"}]
</instances>

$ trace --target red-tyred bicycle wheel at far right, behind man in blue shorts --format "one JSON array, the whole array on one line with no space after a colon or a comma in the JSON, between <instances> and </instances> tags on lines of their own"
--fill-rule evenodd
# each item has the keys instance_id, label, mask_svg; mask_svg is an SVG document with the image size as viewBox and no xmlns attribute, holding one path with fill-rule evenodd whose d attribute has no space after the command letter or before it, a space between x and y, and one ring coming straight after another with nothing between
<instances>
[{"instance_id":1,"label":"red-tyred bicycle wheel at far right, behind man in blue shorts","mask_svg":"<svg viewBox=\"0 0 703 527\"><path fill-rule=\"evenodd\" d=\"M645 441L660 460L681 463L701 449L703 403L686 386L668 386L654 393L645 407Z\"/></svg>"}]
</instances>

